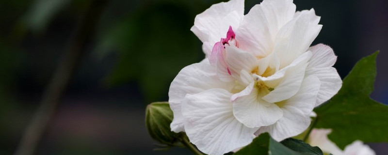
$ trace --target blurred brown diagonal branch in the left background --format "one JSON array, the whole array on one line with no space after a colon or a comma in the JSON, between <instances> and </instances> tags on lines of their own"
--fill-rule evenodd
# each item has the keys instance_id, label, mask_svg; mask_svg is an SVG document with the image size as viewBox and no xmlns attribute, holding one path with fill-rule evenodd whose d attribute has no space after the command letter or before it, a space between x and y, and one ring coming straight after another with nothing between
<instances>
[{"instance_id":1,"label":"blurred brown diagonal branch in the left background","mask_svg":"<svg viewBox=\"0 0 388 155\"><path fill-rule=\"evenodd\" d=\"M97 20L106 1L92 0L83 20L81 20L73 33L69 48L65 51L49 85L43 93L39 107L32 116L30 124L25 129L15 155L33 155L51 117L55 113L69 80L76 70L76 66L80 62L80 57L84 53L82 49L95 30Z\"/></svg>"}]
</instances>

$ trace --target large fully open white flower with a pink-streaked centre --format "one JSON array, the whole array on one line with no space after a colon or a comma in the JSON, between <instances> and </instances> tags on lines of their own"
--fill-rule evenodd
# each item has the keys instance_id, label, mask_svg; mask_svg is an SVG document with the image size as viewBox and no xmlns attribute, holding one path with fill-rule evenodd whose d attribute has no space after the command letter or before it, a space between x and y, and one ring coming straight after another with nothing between
<instances>
[{"instance_id":1,"label":"large fully open white flower with a pink-streaked centre","mask_svg":"<svg viewBox=\"0 0 388 155\"><path fill-rule=\"evenodd\" d=\"M342 84L333 50L309 47L322 28L313 9L264 0L244 16L243 3L214 4L195 17L191 30L206 59L183 68L169 90L172 131L210 155L263 132L279 141L302 133L312 109Z\"/></svg>"}]
</instances>

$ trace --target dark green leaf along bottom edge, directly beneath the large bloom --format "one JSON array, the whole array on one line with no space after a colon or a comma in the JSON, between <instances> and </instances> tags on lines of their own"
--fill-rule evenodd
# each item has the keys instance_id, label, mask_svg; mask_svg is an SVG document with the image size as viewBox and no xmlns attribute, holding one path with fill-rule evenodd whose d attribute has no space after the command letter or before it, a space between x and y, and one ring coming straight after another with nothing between
<instances>
[{"instance_id":1,"label":"dark green leaf along bottom edge, directly beneath the large bloom","mask_svg":"<svg viewBox=\"0 0 388 155\"><path fill-rule=\"evenodd\" d=\"M271 153L271 154L270 154ZM251 144L234 155L323 155L318 147L312 147L302 140L292 138L277 142L268 133L259 135Z\"/></svg>"}]
</instances>

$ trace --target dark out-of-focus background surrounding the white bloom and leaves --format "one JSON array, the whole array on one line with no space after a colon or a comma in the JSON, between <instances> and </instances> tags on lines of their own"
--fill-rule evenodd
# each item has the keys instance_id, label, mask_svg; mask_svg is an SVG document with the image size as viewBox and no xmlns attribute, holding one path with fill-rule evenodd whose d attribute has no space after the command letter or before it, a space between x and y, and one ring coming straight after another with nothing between
<instances>
[{"instance_id":1,"label":"dark out-of-focus background surrounding the white bloom and leaves","mask_svg":"<svg viewBox=\"0 0 388 155\"><path fill-rule=\"evenodd\" d=\"M197 14L221 1L1 0L0 154L15 152L51 78L61 72L57 66L73 49L78 63L36 155L189 154L152 151L145 108L167 101L179 70L204 58L190 28ZM245 0L245 13L261 1ZM342 78L357 60L381 50L372 98L388 103L388 1L294 3L322 16L313 45L334 49ZM384 146L372 144L378 155L388 154Z\"/></svg>"}]
</instances>

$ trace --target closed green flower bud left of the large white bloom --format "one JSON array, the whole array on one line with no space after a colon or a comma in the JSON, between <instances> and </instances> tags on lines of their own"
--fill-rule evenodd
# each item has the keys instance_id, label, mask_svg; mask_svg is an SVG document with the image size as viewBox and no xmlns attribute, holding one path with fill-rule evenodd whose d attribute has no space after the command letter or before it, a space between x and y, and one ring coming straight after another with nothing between
<instances>
[{"instance_id":1,"label":"closed green flower bud left of the large white bloom","mask_svg":"<svg viewBox=\"0 0 388 155\"><path fill-rule=\"evenodd\" d=\"M163 144L173 145L179 137L172 132L170 124L173 121L173 111L168 102L154 102L146 108L146 127L154 140Z\"/></svg>"}]
</instances>

